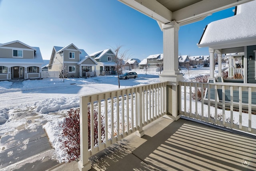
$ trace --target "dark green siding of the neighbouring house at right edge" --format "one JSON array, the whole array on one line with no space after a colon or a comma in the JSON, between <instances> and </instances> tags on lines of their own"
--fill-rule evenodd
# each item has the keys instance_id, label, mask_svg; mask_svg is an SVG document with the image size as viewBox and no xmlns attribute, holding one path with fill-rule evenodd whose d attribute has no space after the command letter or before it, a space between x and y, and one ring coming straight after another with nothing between
<instances>
[{"instance_id":1,"label":"dark green siding of the neighbouring house at right edge","mask_svg":"<svg viewBox=\"0 0 256 171\"><path fill-rule=\"evenodd\" d=\"M247 46L247 82L248 83L256 83L255 80L255 53L256 45ZM252 60L249 60L249 56L252 56Z\"/></svg>"}]
</instances>

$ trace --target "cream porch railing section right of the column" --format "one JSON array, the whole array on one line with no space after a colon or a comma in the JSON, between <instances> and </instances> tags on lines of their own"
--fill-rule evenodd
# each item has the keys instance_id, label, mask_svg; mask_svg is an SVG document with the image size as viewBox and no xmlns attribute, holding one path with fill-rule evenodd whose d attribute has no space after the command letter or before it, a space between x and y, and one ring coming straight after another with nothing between
<instances>
[{"instance_id":1,"label":"cream porch railing section right of the column","mask_svg":"<svg viewBox=\"0 0 256 171\"><path fill-rule=\"evenodd\" d=\"M256 134L256 85L195 82L179 85L180 114Z\"/></svg>"}]
</instances>

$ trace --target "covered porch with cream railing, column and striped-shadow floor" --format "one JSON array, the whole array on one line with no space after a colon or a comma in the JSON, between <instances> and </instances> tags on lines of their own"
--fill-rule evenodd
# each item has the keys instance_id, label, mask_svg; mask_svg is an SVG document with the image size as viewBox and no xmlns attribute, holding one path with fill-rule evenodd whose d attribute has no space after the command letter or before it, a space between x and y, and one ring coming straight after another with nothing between
<instances>
[{"instance_id":1,"label":"covered porch with cream railing, column and striped-shadow floor","mask_svg":"<svg viewBox=\"0 0 256 171\"><path fill-rule=\"evenodd\" d=\"M244 85L249 92L248 103L246 104L242 103L242 90L244 87L227 85L230 88L230 93L233 93L234 89L241 94L237 104L239 121L235 122L233 120L233 111L236 101L234 102L234 99L230 99L230 119L227 119L228 115L225 114L226 92L222 91L222 97L224 97L222 101L219 101L216 95L218 88L225 89L226 85L222 83L215 85L216 82L206 84L182 82L183 77L178 68L177 58L178 30L180 26L202 20L213 12L237 6L250 0L228 0L221 4L209 0L190 0L188 3L175 3L176 1L167 3L165 0L120 1L157 20L160 29L163 31L164 71L160 75L161 82L158 84L129 87L80 97L81 158L78 162L79 170L86 171L92 168L96 170L99 168L103 170L108 168L111 170L115 168L125 170L127 168L129 170L132 167L131 163L140 165L140 167L134 168L137 170L162 170L164 168L167 168L166 170L212 170L213 168L216 170L234 170L236 168L244 170L244 165L246 165L246 169L255 170L256 158L253 146L255 137L252 136L252 139L250 139L252 143L247 146L247 148L250 148L245 152L244 146L238 146L245 144L244 137L248 137L248 135L232 137L226 134L233 131L232 129L247 131L252 134L256 133L255 117L251 107L254 86ZM212 54L210 54L211 62L213 59ZM213 70L212 66L210 65L211 71ZM214 76L211 78L216 80ZM204 88L214 89L216 98L211 100L211 95L209 94L206 101L203 98L203 101L198 103L198 88L201 88L201 90ZM196 91L196 99L191 98L193 91ZM203 92L201 93L202 97L204 97ZM187 93L189 96L186 96ZM207 102L207 104L204 102ZM221 117L219 117L218 102L222 104ZM244 114L244 106L248 108L248 113L246 114ZM92 131L95 130L94 124L91 122L88 125L88 109L92 113L94 107L96 107L101 116L103 115L103 117L98 117L97 121L97 123L101 123L96 128L98 130L96 136L98 137L96 138L98 143L93 140L95 137L94 131ZM212 107L214 108L212 109ZM163 118L164 116L168 117L169 123L166 123L166 126L159 130L158 126L153 123L159 121L160 125L164 125L164 119L166 119ZM195 121L200 120L210 125L220 125L231 129L227 132L222 132L218 129L215 132L213 131L215 128L204 127L205 125L201 123L190 121L187 123L185 120L182 123L183 118L180 119L181 117L194 118ZM91 115L90 121L93 120L94 118ZM102 128L104 129L103 134L101 134ZM148 134L146 133L147 129L151 130ZM90 130L90 141L88 139L88 130ZM153 130L155 130L155 134L151 135ZM130 141L129 139L126 140L126 138L132 135L137 136L132 138L134 144L126 144ZM160 139L160 136L163 136L164 139L158 142L157 137ZM226 139L226 137L228 138ZM139 143L136 139L144 142ZM231 143L233 140L236 142ZM116 151L114 150L115 148L111 150L110 147L118 146L119 143L122 147L117 148ZM238 150L236 150L236 147ZM108 149L110 150L109 152L107 152ZM124 155L126 154L125 151L130 152ZM250 159L241 156L240 154L242 153ZM105 155L105 158L102 157L103 155ZM129 156L131 160L126 158ZM234 156L237 156L237 159ZM137 158L139 159L138 161L136 161ZM116 164L119 161L123 162L122 165ZM97 163L99 163L99 168Z\"/></svg>"}]
</instances>

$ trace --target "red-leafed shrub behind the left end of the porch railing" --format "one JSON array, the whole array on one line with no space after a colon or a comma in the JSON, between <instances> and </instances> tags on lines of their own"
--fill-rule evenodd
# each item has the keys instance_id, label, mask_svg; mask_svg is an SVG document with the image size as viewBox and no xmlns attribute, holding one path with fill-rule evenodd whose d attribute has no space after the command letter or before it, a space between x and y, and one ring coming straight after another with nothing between
<instances>
[{"instance_id":1,"label":"red-leafed shrub behind the left end of the porch railing","mask_svg":"<svg viewBox=\"0 0 256 171\"><path fill-rule=\"evenodd\" d=\"M62 149L68 153L69 162L80 157L80 109L70 109L68 111L68 116L62 124ZM88 107L88 147L90 149L90 107ZM105 137L105 126L104 126L104 116L101 116L101 136L102 141ZM94 146L98 144L98 111L94 108Z\"/></svg>"}]
</instances>

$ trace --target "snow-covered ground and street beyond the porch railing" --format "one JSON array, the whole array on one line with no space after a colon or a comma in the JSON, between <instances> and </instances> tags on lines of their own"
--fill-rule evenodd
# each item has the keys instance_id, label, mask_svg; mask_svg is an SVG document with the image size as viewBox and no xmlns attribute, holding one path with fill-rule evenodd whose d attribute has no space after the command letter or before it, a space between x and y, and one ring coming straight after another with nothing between
<instances>
[{"instance_id":1,"label":"snow-covered ground and street beyond the porch railing","mask_svg":"<svg viewBox=\"0 0 256 171\"><path fill-rule=\"evenodd\" d=\"M218 68L216 68L218 70ZM188 76L181 70L185 80L210 74L209 68L193 68ZM160 82L160 73L138 73L138 78L120 80L121 88ZM59 162L66 161L66 153L60 149L58 135L60 124L67 111L79 107L79 95L118 89L116 76L94 78L46 78L23 82L0 82L0 137L15 134L22 129L43 126Z\"/></svg>"}]
</instances>

